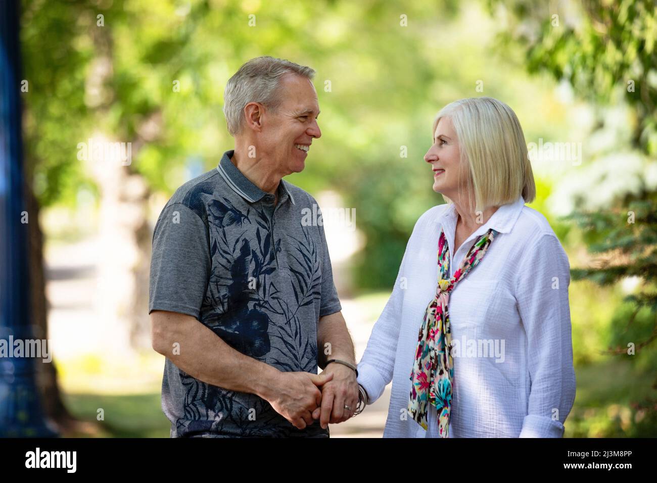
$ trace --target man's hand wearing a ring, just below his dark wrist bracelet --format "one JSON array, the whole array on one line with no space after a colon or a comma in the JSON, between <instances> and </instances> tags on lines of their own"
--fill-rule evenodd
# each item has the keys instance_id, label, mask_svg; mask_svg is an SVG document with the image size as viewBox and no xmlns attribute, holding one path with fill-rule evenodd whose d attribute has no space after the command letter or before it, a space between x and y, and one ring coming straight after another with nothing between
<instances>
[{"instance_id":1,"label":"man's hand wearing a ring, just below his dark wrist bracelet","mask_svg":"<svg viewBox=\"0 0 657 483\"><path fill-rule=\"evenodd\" d=\"M350 367L337 362L327 365L321 375L332 375L333 380L322 388L321 407L313 411L313 419L319 419L322 428L347 421L358 403L356 373ZM345 409L345 405L351 409Z\"/></svg>"}]
</instances>

